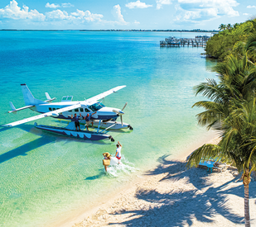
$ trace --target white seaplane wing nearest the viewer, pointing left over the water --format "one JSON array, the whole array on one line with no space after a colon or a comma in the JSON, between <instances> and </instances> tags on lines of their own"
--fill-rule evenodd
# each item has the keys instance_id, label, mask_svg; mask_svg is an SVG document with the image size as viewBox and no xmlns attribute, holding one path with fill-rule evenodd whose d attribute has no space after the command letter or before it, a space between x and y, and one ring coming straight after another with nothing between
<instances>
[{"instance_id":1,"label":"white seaplane wing nearest the viewer, pointing left over the water","mask_svg":"<svg viewBox=\"0 0 256 227\"><path fill-rule=\"evenodd\" d=\"M67 106L67 107L58 109L56 111L50 111L50 112L43 113L41 115L31 116L31 117L28 117L28 118L23 119L21 121L15 121L15 122L9 123L7 125L2 125L2 126L4 126L4 127L13 127L13 126L16 126L16 125L22 125L22 124L27 123L29 121L35 121L35 120L41 119L41 118L44 118L46 116L59 116L58 113L60 113L60 112L70 111L70 110L79 108L80 106L81 106L80 104Z\"/></svg>"}]
</instances>

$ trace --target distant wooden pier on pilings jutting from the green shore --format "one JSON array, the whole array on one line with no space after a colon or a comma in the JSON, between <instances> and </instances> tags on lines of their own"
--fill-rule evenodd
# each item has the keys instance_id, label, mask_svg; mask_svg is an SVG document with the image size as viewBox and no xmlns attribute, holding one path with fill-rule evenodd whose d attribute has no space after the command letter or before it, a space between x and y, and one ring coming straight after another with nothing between
<instances>
[{"instance_id":1,"label":"distant wooden pier on pilings jutting from the green shore","mask_svg":"<svg viewBox=\"0 0 256 227\"><path fill-rule=\"evenodd\" d=\"M189 38L176 38L168 37L164 41L160 41L161 47L181 47L181 46L192 46L192 47L205 47L207 41L210 39L207 35L196 36L195 39Z\"/></svg>"}]
</instances>

